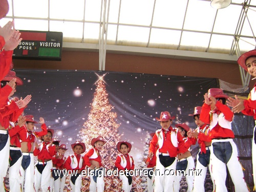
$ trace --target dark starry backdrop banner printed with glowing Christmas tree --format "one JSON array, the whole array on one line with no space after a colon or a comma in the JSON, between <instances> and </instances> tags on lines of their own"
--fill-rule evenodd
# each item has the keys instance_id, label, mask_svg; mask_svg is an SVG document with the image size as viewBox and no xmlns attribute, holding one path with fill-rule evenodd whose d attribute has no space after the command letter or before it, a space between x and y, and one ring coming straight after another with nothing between
<instances>
[{"instance_id":1,"label":"dark starry backdrop banner printed with glowing Christmas tree","mask_svg":"<svg viewBox=\"0 0 256 192\"><path fill-rule=\"evenodd\" d=\"M100 155L107 169L115 168L116 144L122 140L132 144L130 155L135 168L145 169L146 143L151 139L150 133L161 128L156 117L168 111L175 116L173 127L186 123L195 129L193 116L188 115L203 104L203 95L209 88L218 87L215 78L77 70L15 72L24 85L17 86L13 97L32 95L25 115L33 115L36 121L44 117L48 128L55 131L53 138L69 148L66 156L73 153L71 144L77 140L86 144L88 152L92 138L102 136L107 142ZM39 124L35 126L40 130ZM191 148L196 159L198 145ZM118 177L104 180L105 191L121 191ZM89 191L89 181L89 177L83 178L82 191ZM210 191L211 184L208 185ZM65 190L70 191L69 184ZM146 177L133 177L132 190L147 191Z\"/></svg>"}]
</instances>

